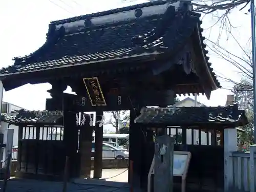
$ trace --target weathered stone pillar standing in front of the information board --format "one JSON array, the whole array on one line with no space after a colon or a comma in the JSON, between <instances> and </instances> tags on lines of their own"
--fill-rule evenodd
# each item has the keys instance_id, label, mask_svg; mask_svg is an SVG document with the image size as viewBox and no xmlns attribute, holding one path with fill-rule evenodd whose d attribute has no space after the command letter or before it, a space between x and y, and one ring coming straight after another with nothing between
<instances>
[{"instance_id":1,"label":"weathered stone pillar standing in front of the information board","mask_svg":"<svg viewBox=\"0 0 256 192\"><path fill-rule=\"evenodd\" d=\"M154 191L173 191L174 139L167 135L157 136L155 143Z\"/></svg>"}]
</instances>

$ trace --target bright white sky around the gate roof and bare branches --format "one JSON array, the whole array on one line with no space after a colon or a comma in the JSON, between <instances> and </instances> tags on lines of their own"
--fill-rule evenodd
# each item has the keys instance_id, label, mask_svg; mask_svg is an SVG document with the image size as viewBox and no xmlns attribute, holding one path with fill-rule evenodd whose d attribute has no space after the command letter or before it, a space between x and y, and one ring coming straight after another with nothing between
<instances>
[{"instance_id":1,"label":"bright white sky around the gate roof and bare branches","mask_svg":"<svg viewBox=\"0 0 256 192\"><path fill-rule=\"evenodd\" d=\"M90 4L89 4L90 2ZM52 20L68 18L72 16L84 15L92 12L114 9L117 7L128 6L131 4L144 3L146 1L132 1L123 3L121 0L8 0L0 4L1 30L0 30L0 67L6 67L13 64L13 57L28 55L46 41L48 25ZM250 16L243 12L233 11L230 14L230 20L234 24L233 35L241 42L242 47L250 48ZM216 25L211 15L203 18L203 35L212 41L216 41L220 27ZM222 33L219 40L223 47L227 47L236 55L243 56L234 40L225 32ZM237 70L219 59L215 54L209 54L212 67L219 75L232 78L239 81L241 76ZM219 79L224 88L230 89L232 84ZM44 110L46 98L50 95L46 92L51 89L50 84L26 85L4 93L4 101L22 106L28 110ZM70 92L68 89L67 92ZM207 100L205 96L199 96L198 100L206 105L224 105L226 95L229 90L220 89L212 92L211 99ZM183 99L184 97L181 97Z\"/></svg>"}]
</instances>

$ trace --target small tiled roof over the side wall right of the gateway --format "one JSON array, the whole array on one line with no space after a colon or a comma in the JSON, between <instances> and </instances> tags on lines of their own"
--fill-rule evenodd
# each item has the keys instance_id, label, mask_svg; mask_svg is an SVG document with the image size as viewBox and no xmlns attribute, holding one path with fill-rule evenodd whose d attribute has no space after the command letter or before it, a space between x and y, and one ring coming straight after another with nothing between
<instances>
[{"instance_id":1,"label":"small tiled roof over the side wall right of the gateway","mask_svg":"<svg viewBox=\"0 0 256 192\"><path fill-rule=\"evenodd\" d=\"M136 123L165 125L195 125L200 123L220 123L244 125L248 123L244 110L238 110L238 105L230 106L200 106L143 108Z\"/></svg>"}]
</instances>

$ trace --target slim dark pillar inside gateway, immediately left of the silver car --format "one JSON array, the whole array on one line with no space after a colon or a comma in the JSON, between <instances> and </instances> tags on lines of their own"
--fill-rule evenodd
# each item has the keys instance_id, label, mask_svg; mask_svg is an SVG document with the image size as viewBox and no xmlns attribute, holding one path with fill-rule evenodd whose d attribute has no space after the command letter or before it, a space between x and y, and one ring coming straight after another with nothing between
<instances>
[{"instance_id":1,"label":"slim dark pillar inside gateway, immediately left of the silver car","mask_svg":"<svg viewBox=\"0 0 256 192\"><path fill-rule=\"evenodd\" d=\"M96 111L93 178L102 177L103 111Z\"/></svg>"}]
</instances>

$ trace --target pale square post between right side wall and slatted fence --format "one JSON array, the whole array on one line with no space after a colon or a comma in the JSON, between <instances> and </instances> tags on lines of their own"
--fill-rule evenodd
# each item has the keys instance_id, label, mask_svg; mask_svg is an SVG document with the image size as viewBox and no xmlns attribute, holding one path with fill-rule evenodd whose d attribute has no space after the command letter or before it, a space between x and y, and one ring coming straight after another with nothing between
<instances>
[{"instance_id":1,"label":"pale square post between right side wall and slatted fence","mask_svg":"<svg viewBox=\"0 0 256 192\"><path fill-rule=\"evenodd\" d=\"M224 191L231 191L233 186L233 159L230 152L237 151L237 129L224 130Z\"/></svg>"}]
</instances>

